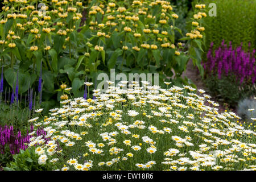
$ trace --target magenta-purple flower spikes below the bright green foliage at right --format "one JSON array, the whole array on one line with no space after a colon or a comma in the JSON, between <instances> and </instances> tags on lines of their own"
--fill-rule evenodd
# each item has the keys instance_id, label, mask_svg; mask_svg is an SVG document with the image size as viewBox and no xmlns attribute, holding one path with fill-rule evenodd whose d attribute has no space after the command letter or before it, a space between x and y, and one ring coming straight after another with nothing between
<instances>
[{"instance_id":1,"label":"magenta-purple flower spikes below the bright green foliage at right","mask_svg":"<svg viewBox=\"0 0 256 182\"><path fill-rule=\"evenodd\" d=\"M225 40L222 41L221 46L215 51L212 50L213 43L210 44L207 53L207 64L204 65L205 71L210 74L217 75L221 79L222 75L236 76L237 82L240 84L254 84L256 80L256 65L255 65L255 49L253 52L243 51L241 46L237 48L232 47L232 42L228 45ZM248 44L250 49L251 44Z\"/></svg>"}]
</instances>

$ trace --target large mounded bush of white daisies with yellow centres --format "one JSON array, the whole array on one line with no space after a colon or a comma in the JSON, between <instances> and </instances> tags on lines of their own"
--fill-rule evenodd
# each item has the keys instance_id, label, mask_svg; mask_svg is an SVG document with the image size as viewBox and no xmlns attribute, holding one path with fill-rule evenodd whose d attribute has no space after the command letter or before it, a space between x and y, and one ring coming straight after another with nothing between
<instances>
[{"instance_id":1,"label":"large mounded bush of white daisies with yellow centres","mask_svg":"<svg viewBox=\"0 0 256 182\"><path fill-rule=\"evenodd\" d=\"M133 81L121 89L122 81L93 90L94 99L61 101L48 117L30 119L46 135L28 146L39 164L64 171L255 169L255 130L232 112L218 113L204 90L166 84Z\"/></svg>"}]
</instances>

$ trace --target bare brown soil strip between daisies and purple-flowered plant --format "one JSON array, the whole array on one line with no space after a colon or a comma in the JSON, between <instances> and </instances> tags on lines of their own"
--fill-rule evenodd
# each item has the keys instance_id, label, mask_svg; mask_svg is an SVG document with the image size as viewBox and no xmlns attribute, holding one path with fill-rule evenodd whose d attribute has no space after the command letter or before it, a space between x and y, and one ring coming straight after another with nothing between
<instances>
[{"instance_id":1,"label":"bare brown soil strip between daisies and purple-flowered plant","mask_svg":"<svg viewBox=\"0 0 256 182\"><path fill-rule=\"evenodd\" d=\"M185 76L193 81L193 83L197 86L197 89L205 90L205 94L208 94L209 96L212 97L212 98L210 98L210 100L217 102L220 105L220 106L218 106L219 113L223 113L226 109L228 110L228 108L224 105L224 103L217 101L217 99L214 98L210 94L209 89L207 88L207 86L205 86L205 84L200 76L199 70L197 69L196 66L194 67L192 60L188 61L187 69L185 72L183 72L183 75L181 77L184 78ZM236 113L236 110L233 110L233 109L229 109L229 110Z\"/></svg>"}]
</instances>

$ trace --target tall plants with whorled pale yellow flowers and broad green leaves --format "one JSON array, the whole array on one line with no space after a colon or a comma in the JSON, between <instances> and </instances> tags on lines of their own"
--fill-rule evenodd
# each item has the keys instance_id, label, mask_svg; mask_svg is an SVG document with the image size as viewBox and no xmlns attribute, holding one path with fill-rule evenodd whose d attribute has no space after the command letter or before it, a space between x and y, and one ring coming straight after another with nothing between
<instances>
[{"instance_id":1,"label":"tall plants with whorled pale yellow flowers and broad green leaves","mask_svg":"<svg viewBox=\"0 0 256 182\"><path fill-rule=\"evenodd\" d=\"M36 10L41 2L46 5L43 16L41 10ZM85 77L94 82L98 73L111 68L125 73L159 72L162 80L173 76L174 70L175 76L180 77L190 52L201 67L200 56L195 55L201 48L203 33L193 27L195 36L188 38L191 46L187 54L182 44L175 42L175 30L180 30L175 26L177 15L170 2L83 2L3 2L1 74L12 89L19 83L18 94L31 87L38 91L37 96L44 96L42 104L56 101L56 96L60 101L56 88L64 83L72 86L73 95L80 97L84 94ZM81 23L82 5L88 5L85 23ZM199 11L204 10L197 9L196 13ZM152 33L153 29L159 33ZM141 36L134 36L135 33Z\"/></svg>"}]
</instances>

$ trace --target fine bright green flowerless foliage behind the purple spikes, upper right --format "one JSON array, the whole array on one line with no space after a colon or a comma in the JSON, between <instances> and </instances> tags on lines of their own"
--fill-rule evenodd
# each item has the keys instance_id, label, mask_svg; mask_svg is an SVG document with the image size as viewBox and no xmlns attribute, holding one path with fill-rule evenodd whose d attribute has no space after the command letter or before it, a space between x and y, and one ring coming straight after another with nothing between
<instances>
[{"instance_id":1,"label":"fine bright green flowerless foliage behind the purple spikes, upper right","mask_svg":"<svg viewBox=\"0 0 256 182\"><path fill-rule=\"evenodd\" d=\"M225 43L232 42L234 47L243 43L243 49L251 42L251 50L255 47L255 11L256 1L254 0L217 0L201 1L208 7L209 3L216 3L217 16L205 18L206 46L209 49L210 43L214 43L213 49L220 46L222 40ZM209 10L209 8L208 8Z\"/></svg>"}]
</instances>

